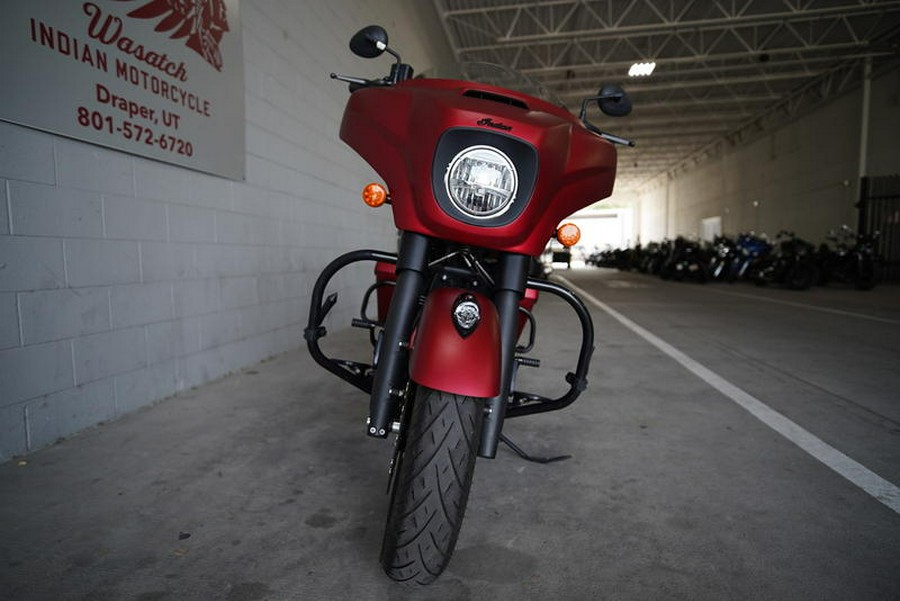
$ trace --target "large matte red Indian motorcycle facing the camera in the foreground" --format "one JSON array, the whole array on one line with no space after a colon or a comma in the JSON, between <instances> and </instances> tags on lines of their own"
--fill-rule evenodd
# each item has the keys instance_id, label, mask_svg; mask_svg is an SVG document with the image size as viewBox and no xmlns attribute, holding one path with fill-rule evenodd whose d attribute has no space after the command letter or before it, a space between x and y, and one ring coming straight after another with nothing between
<instances>
[{"instance_id":1,"label":"large matte red Indian motorcycle facing the camera in the foreground","mask_svg":"<svg viewBox=\"0 0 900 601\"><path fill-rule=\"evenodd\" d=\"M313 289L304 336L316 362L370 395L367 434L396 435L381 563L395 580L428 584L450 561L476 456L493 458L509 442L504 420L562 409L587 385L590 313L567 288L530 274L548 240L577 242L574 225L558 224L612 193L613 144L631 144L591 124L589 102L613 116L631 103L606 86L576 118L497 85L413 79L374 25L350 49L396 59L383 79L332 77L350 84L341 139L387 184L370 184L363 200L390 204L399 251L357 250L330 263ZM337 302L336 293L325 295L328 283L360 261L374 262L375 275L352 323L369 331L365 364L319 346ZM539 366L527 356L539 293L562 298L581 323L578 362L557 398L515 388L520 366Z\"/></svg>"}]
</instances>

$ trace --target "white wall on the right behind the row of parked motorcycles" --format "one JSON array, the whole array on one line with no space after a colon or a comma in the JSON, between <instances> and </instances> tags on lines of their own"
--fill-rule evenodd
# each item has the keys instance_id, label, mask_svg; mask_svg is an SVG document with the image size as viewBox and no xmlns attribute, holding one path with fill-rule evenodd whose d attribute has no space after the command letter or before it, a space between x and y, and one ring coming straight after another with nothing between
<instances>
[{"instance_id":1,"label":"white wall on the right behind the row of parked motorcycles","mask_svg":"<svg viewBox=\"0 0 900 601\"><path fill-rule=\"evenodd\" d=\"M900 69L872 83L868 175L900 173ZM862 91L848 93L755 142L655 182L638 202L641 240L722 231L793 230L812 242L856 226Z\"/></svg>"}]
</instances>

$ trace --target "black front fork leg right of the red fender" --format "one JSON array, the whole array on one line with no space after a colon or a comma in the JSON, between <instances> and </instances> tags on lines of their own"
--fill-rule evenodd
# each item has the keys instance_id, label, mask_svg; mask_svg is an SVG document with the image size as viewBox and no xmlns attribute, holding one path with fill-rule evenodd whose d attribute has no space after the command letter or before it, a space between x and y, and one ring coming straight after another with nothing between
<instances>
[{"instance_id":1,"label":"black front fork leg right of the red fender","mask_svg":"<svg viewBox=\"0 0 900 601\"><path fill-rule=\"evenodd\" d=\"M525 293L530 257L505 254L500 262L500 273L494 292L494 304L500 316L500 394L488 399L487 415L481 431L478 455L493 458L503 431L506 401L512 386L512 373L516 359L516 342L519 338L519 303Z\"/></svg>"}]
</instances>

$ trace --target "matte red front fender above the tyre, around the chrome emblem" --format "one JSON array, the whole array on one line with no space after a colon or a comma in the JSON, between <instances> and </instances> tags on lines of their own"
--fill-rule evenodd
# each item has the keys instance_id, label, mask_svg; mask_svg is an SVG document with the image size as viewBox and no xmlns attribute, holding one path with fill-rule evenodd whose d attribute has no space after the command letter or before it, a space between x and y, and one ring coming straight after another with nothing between
<instances>
[{"instance_id":1,"label":"matte red front fender above the tyre, around the chrome emblem","mask_svg":"<svg viewBox=\"0 0 900 601\"><path fill-rule=\"evenodd\" d=\"M453 325L461 294L475 297L481 322L463 338ZM464 396L490 398L500 393L500 323L494 303L483 294L438 288L428 295L413 334L409 374L417 384Z\"/></svg>"}]
</instances>

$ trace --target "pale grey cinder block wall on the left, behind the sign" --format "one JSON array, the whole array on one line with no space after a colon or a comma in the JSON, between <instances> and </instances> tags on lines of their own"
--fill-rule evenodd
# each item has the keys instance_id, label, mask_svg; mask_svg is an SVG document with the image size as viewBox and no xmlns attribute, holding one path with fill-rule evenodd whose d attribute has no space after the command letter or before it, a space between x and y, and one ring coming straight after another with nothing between
<instances>
[{"instance_id":1,"label":"pale grey cinder block wall on the left, behind the sign","mask_svg":"<svg viewBox=\"0 0 900 601\"><path fill-rule=\"evenodd\" d=\"M388 27L419 71L449 50L431 3L240 5L246 182L0 122L0 461L301 346L309 291L351 248L392 248L375 174L338 139L347 89L331 71ZM357 269L336 282L357 310ZM352 299L352 302L350 302Z\"/></svg>"}]
</instances>

